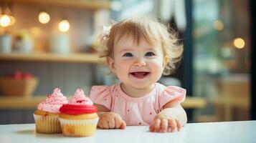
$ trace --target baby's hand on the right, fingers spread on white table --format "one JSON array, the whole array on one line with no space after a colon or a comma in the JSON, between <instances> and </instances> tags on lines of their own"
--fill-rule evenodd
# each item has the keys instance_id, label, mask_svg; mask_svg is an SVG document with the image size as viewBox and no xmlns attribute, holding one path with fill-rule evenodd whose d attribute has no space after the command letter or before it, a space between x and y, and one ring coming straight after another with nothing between
<instances>
[{"instance_id":1,"label":"baby's hand on the right, fingers spread on white table","mask_svg":"<svg viewBox=\"0 0 256 143\"><path fill-rule=\"evenodd\" d=\"M150 132L176 132L181 130L181 123L174 116L156 115L149 127Z\"/></svg>"}]
</instances>

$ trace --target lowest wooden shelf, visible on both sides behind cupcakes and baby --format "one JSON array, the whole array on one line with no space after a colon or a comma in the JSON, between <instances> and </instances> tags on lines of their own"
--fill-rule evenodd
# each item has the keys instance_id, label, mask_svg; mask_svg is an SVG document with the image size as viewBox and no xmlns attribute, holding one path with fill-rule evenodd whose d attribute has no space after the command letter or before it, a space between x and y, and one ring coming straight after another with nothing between
<instances>
[{"instance_id":1,"label":"lowest wooden shelf, visible on both sides behind cupcakes and baby","mask_svg":"<svg viewBox=\"0 0 256 143\"><path fill-rule=\"evenodd\" d=\"M36 109L37 104L44 101L45 98L45 96L0 97L0 109ZM201 109L206 106L206 101L200 97L186 97L181 105L184 109Z\"/></svg>"}]
</instances>

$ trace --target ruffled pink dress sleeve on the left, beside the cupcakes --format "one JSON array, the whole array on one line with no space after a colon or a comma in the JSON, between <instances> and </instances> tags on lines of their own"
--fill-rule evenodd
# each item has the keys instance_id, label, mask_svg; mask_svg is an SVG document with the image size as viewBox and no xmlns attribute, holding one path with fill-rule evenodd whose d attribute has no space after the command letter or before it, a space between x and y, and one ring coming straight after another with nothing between
<instances>
[{"instance_id":1,"label":"ruffled pink dress sleeve on the left, beside the cupcakes","mask_svg":"<svg viewBox=\"0 0 256 143\"><path fill-rule=\"evenodd\" d=\"M92 99L93 103L103 105L110 110L112 103L110 87L93 86L90 90L90 99Z\"/></svg>"}]
</instances>

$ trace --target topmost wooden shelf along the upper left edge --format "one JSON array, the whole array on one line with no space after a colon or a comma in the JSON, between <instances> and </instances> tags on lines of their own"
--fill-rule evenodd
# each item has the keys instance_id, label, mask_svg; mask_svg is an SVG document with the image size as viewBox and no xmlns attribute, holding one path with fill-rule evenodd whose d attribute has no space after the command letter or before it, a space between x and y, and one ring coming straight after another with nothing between
<instances>
[{"instance_id":1,"label":"topmost wooden shelf along the upper left edge","mask_svg":"<svg viewBox=\"0 0 256 143\"><path fill-rule=\"evenodd\" d=\"M106 0L1 0L16 4L37 4L42 6L62 6L81 9L111 9L111 1Z\"/></svg>"}]
</instances>

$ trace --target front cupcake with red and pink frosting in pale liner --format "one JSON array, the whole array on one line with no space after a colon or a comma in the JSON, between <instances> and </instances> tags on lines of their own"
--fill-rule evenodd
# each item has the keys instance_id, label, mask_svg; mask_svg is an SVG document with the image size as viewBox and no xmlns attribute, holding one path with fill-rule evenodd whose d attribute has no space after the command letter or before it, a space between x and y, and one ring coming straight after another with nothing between
<instances>
[{"instance_id":1,"label":"front cupcake with red and pink frosting in pale liner","mask_svg":"<svg viewBox=\"0 0 256 143\"><path fill-rule=\"evenodd\" d=\"M88 137L95 134L98 124L97 108L85 97L82 89L77 89L67 104L60 107L62 134L70 137Z\"/></svg>"}]
</instances>

